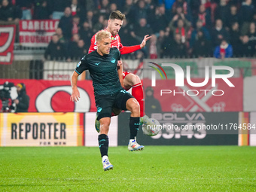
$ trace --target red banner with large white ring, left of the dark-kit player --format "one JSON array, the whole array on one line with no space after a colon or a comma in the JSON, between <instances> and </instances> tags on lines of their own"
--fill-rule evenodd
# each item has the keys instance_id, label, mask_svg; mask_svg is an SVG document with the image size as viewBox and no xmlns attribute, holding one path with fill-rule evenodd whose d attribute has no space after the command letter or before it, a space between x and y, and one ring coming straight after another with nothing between
<instances>
[{"instance_id":1,"label":"red banner with large white ring, left of the dark-kit player","mask_svg":"<svg viewBox=\"0 0 256 192\"><path fill-rule=\"evenodd\" d=\"M70 81L44 81L44 80L17 80L0 79L0 90L5 81L9 83L23 83L26 85L26 93L29 96L29 112L87 112L96 111L92 81L78 81L80 100L69 100L72 87ZM16 87L9 91L11 99L17 98ZM2 102L0 101L0 108Z\"/></svg>"}]
</instances>

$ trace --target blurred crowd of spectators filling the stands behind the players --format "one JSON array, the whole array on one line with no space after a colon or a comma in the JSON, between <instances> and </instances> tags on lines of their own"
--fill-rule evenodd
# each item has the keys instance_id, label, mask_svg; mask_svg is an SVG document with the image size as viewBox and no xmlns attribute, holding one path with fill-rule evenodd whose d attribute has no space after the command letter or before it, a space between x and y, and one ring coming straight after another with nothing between
<instances>
[{"instance_id":1,"label":"blurred crowd of spectators filling the stands behind the players","mask_svg":"<svg viewBox=\"0 0 256 192\"><path fill-rule=\"evenodd\" d=\"M45 57L81 58L111 11L126 15L125 46L151 40L140 58L256 56L253 0L2 0L0 20L59 20Z\"/></svg>"}]
</instances>

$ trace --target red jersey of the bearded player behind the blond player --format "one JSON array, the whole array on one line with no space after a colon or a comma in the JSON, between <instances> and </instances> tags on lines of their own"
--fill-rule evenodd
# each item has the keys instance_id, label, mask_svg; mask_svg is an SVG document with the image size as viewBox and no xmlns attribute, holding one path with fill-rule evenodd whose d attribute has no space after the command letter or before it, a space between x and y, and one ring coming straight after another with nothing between
<instances>
[{"instance_id":1,"label":"red jersey of the bearded player behind the blond player","mask_svg":"<svg viewBox=\"0 0 256 192\"><path fill-rule=\"evenodd\" d=\"M91 53L97 49L95 36L96 34L93 35L92 39L90 40L90 48L88 53ZM133 53L134 51L141 49L140 45L130 47L123 46L123 44L120 42L120 37L118 34L115 36L111 35L111 47L117 47L121 54Z\"/></svg>"}]
</instances>

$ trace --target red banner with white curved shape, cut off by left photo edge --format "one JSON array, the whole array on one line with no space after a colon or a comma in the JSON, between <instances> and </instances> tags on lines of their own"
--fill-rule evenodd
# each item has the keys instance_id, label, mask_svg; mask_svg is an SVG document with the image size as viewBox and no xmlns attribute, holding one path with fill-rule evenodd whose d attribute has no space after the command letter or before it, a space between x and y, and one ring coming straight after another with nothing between
<instances>
[{"instance_id":1,"label":"red banner with white curved shape, cut off by left photo edge","mask_svg":"<svg viewBox=\"0 0 256 192\"><path fill-rule=\"evenodd\" d=\"M11 64L14 60L16 26L0 26L0 64Z\"/></svg>"}]
</instances>

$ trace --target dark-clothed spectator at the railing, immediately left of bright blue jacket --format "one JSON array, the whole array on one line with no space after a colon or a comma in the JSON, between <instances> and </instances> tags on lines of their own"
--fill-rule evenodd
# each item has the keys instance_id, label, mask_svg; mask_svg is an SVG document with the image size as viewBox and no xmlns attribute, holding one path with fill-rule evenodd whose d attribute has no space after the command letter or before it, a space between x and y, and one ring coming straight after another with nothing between
<instances>
[{"instance_id":1,"label":"dark-clothed spectator at the railing, immediately left of bright blue jacket","mask_svg":"<svg viewBox=\"0 0 256 192\"><path fill-rule=\"evenodd\" d=\"M193 57L206 57L212 56L212 49L209 39L204 35L203 30L197 32L193 47L192 47Z\"/></svg>"}]
</instances>

